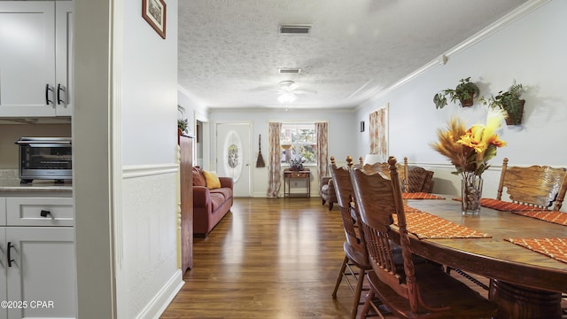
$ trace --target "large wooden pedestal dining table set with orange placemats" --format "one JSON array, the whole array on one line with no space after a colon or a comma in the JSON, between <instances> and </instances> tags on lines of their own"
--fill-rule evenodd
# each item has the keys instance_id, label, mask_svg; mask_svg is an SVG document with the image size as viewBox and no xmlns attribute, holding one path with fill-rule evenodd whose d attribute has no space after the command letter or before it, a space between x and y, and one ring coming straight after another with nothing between
<instances>
[{"instance_id":1,"label":"large wooden pedestal dining table set with orange placemats","mask_svg":"<svg viewBox=\"0 0 567 319\"><path fill-rule=\"evenodd\" d=\"M500 306L498 318L562 317L567 263L513 244L506 238L564 238L567 226L486 207L482 207L478 215L462 215L461 203L450 196L405 199L405 203L487 235L440 239L420 238L410 233L409 237L413 253L450 268L491 278L489 299ZM397 237L397 228L393 226L392 230Z\"/></svg>"}]
</instances>

